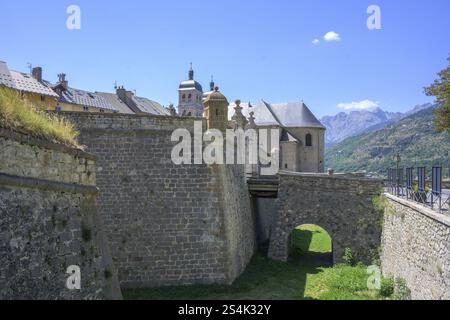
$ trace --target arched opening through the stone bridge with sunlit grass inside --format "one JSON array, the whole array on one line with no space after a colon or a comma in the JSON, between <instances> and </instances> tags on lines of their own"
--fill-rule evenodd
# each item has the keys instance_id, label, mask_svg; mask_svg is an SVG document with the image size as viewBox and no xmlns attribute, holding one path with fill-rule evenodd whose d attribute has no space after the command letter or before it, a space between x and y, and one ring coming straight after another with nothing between
<instances>
[{"instance_id":1,"label":"arched opening through the stone bridge with sunlit grass inside","mask_svg":"<svg viewBox=\"0 0 450 320\"><path fill-rule=\"evenodd\" d=\"M333 266L333 240L322 227L299 225L290 235L289 260L314 267Z\"/></svg>"}]
</instances>

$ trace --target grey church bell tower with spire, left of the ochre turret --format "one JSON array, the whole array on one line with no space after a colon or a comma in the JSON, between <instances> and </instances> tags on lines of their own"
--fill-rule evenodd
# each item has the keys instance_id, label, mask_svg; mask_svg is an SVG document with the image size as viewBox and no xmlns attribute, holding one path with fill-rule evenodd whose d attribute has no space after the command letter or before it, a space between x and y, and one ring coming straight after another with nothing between
<instances>
[{"instance_id":1,"label":"grey church bell tower with spire, left of the ochre turret","mask_svg":"<svg viewBox=\"0 0 450 320\"><path fill-rule=\"evenodd\" d=\"M178 88L178 114L185 117L202 117L203 88L194 80L194 69L189 69L189 79L182 81Z\"/></svg>"}]
</instances>

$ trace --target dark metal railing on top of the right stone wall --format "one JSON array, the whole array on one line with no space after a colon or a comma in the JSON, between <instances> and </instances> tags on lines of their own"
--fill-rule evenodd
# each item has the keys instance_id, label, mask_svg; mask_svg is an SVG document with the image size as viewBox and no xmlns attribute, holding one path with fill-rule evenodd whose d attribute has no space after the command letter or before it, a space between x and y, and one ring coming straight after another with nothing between
<instances>
[{"instance_id":1,"label":"dark metal railing on top of the right stone wall","mask_svg":"<svg viewBox=\"0 0 450 320\"><path fill-rule=\"evenodd\" d=\"M450 212L450 189L442 189L442 167L432 168L430 187L427 185L425 167L388 169L387 176L387 191L390 194L422 204L440 213ZM448 178L450 179L450 167Z\"/></svg>"}]
</instances>

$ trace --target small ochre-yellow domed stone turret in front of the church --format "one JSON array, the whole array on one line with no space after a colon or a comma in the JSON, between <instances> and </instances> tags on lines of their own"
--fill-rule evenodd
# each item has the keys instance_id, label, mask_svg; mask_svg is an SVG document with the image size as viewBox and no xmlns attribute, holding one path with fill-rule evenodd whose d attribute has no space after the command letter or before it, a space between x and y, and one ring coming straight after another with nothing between
<instances>
[{"instance_id":1,"label":"small ochre-yellow domed stone turret in front of the church","mask_svg":"<svg viewBox=\"0 0 450 320\"><path fill-rule=\"evenodd\" d=\"M228 126L228 100L219 91L219 87L215 87L214 91L209 94L204 104L204 115L208 124L208 129L218 129L225 132Z\"/></svg>"}]
</instances>

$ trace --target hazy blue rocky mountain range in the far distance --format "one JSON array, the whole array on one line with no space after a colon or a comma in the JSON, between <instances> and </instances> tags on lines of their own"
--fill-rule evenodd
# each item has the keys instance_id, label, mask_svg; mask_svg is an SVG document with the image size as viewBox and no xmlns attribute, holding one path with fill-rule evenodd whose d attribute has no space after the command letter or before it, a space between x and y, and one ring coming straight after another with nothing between
<instances>
[{"instance_id":1,"label":"hazy blue rocky mountain range in the far distance","mask_svg":"<svg viewBox=\"0 0 450 320\"><path fill-rule=\"evenodd\" d=\"M373 111L341 112L335 116L323 117L321 122L327 127L325 143L331 146L355 135L381 129L430 107L431 104L418 105L407 113L387 112L377 108Z\"/></svg>"}]
</instances>

